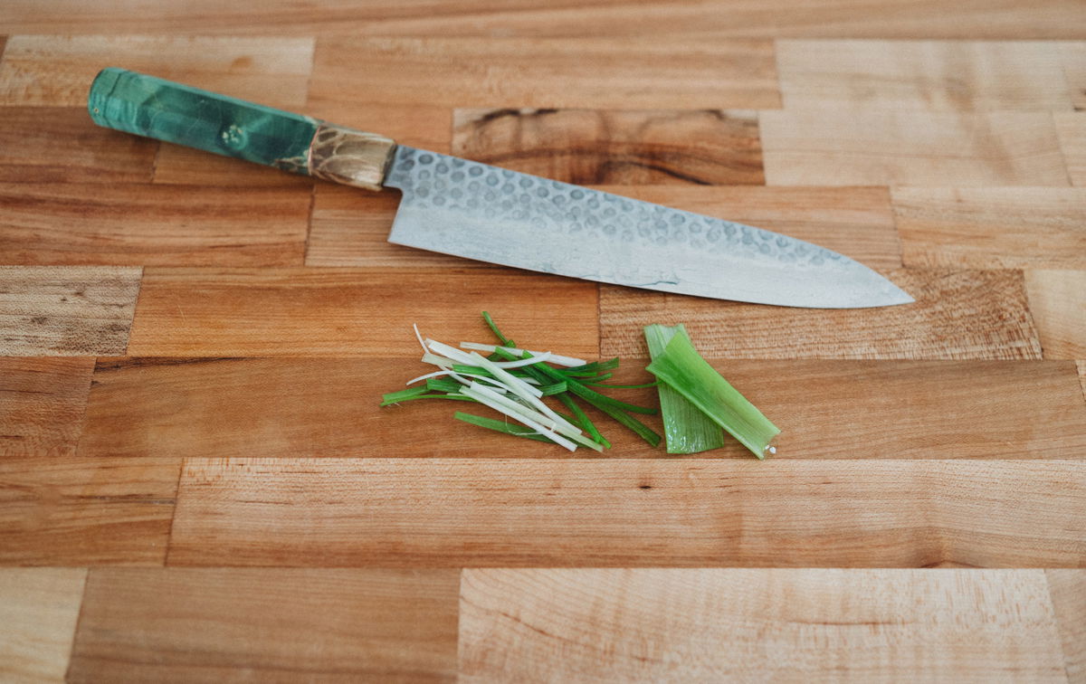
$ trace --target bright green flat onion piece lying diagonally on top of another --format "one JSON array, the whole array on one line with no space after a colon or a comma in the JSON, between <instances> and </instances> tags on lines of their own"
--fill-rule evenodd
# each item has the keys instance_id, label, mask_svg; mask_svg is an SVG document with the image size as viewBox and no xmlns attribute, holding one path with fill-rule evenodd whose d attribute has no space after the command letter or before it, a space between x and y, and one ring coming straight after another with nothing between
<instances>
[{"instance_id":1,"label":"bright green flat onion piece lying diagonally on top of another","mask_svg":"<svg viewBox=\"0 0 1086 684\"><path fill-rule=\"evenodd\" d=\"M769 442L781 431L694 349L685 330L674 330L647 370L681 394L758 458L776 449Z\"/></svg>"}]
</instances>

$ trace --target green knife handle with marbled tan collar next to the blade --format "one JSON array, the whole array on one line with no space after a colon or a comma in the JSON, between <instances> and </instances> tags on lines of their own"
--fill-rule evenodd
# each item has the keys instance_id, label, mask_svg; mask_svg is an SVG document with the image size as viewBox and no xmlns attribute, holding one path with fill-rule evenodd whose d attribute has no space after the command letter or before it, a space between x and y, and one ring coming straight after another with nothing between
<instances>
[{"instance_id":1,"label":"green knife handle with marbled tan collar next to the blade","mask_svg":"<svg viewBox=\"0 0 1086 684\"><path fill-rule=\"evenodd\" d=\"M87 96L99 126L380 190L395 142L383 136L116 67Z\"/></svg>"}]
</instances>

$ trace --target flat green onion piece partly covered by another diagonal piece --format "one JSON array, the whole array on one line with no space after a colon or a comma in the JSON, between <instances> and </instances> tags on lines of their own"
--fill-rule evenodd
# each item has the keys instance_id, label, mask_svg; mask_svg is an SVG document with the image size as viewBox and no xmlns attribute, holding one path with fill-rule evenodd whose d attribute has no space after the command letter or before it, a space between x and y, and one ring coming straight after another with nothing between
<instances>
[{"instance_id":1,"label":"flat green onion piece partly covered by another diagonal piece","mask_svg":"<svg viewBox=\"0 0 1086 684\"><path fill-rule=\"evenodd\" d=\"M677 332L686 334L682 324L674 328L645 326L648 356L655 359ZM659 382L660 417L664 419L664 443L669 454L697 454L724 445L724 431L682 394Z\"/></svg>"}]
</instances>

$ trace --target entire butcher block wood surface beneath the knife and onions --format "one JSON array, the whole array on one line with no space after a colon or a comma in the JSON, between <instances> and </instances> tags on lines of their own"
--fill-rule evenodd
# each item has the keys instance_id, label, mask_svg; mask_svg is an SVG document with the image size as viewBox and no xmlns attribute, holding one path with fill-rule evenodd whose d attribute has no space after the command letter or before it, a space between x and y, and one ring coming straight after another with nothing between
<instances>
[{"instance_id":1,"label":"entire butcher block wood surface beneath the knife and onions","mask_svg":"<svg viewBox=\"0 0 1086 684\"><path fill-rule=\"evenodd\" d=\"M1086 682L1082 2L16 0L0 35L0 681ZM96 127L105 66L786 232L917 301L393 245L394 191ZM377 406L426 372L413 324L489 341L482 311L629 383L685 324L778 453Z\"/></svg>"}]
</instances>

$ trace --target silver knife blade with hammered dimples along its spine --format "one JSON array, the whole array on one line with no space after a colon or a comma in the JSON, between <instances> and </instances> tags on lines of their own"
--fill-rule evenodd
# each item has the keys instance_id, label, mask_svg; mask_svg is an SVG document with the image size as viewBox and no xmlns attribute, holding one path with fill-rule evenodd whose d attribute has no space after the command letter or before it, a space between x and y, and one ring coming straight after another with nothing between
<instances>
[{"instance_id":1,"label":"silver knife blade with hammered dimples along its spine","mask_svg":"<svg viewBox=\"0 0 1086 684\"><path fill-rule=\"evenodd\" d=\"M391 242L599 282L765 304L912 301L836 252L787 236L401 145Z\"/></svg>"}]
</instances>

